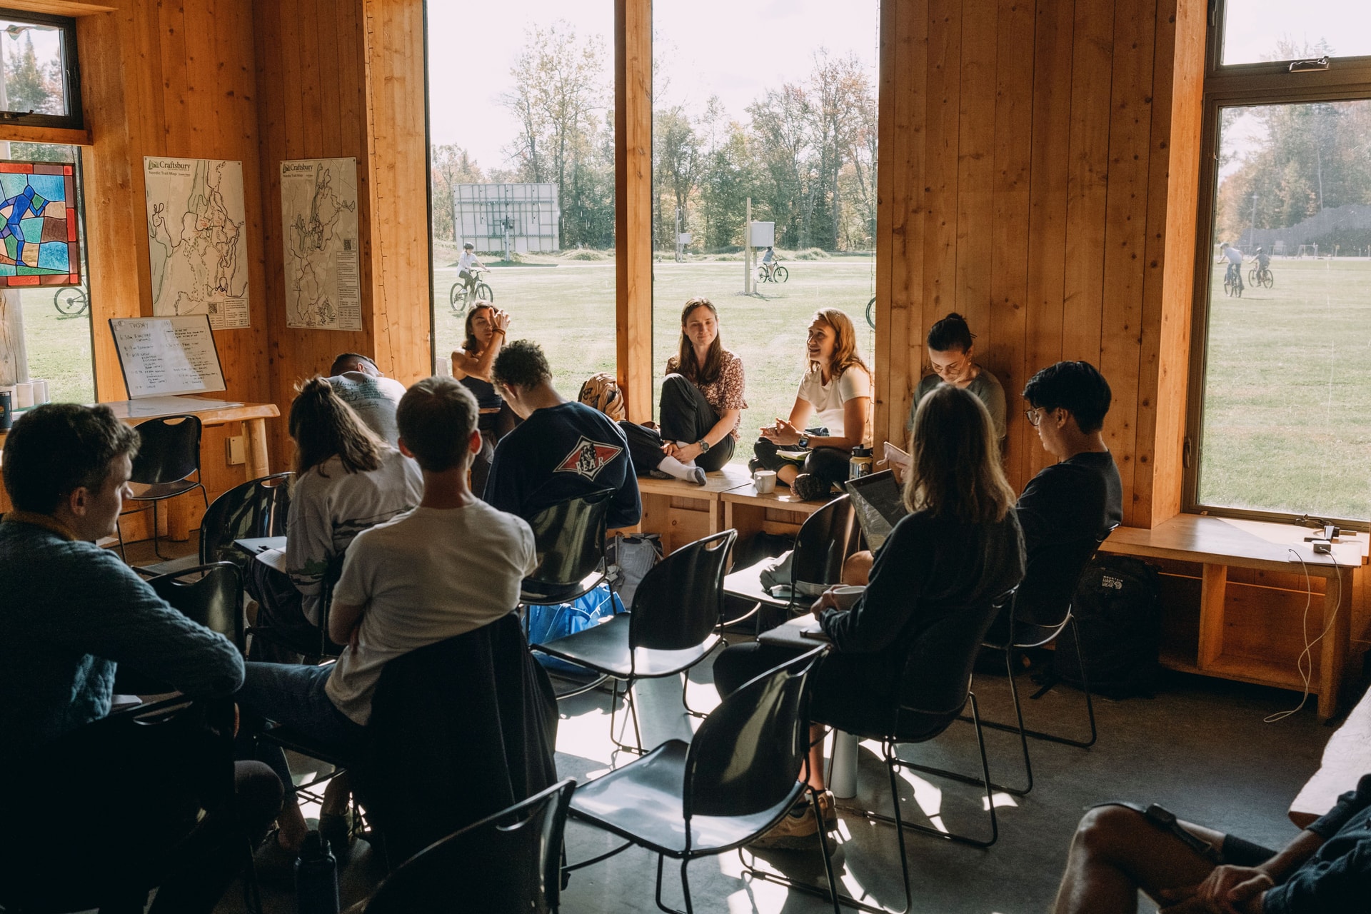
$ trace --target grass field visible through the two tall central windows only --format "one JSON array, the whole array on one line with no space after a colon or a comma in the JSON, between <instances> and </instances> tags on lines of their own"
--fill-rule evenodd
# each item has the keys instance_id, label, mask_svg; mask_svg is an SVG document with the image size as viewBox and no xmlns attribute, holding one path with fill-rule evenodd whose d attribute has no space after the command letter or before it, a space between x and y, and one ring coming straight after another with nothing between
<instances>
[{"instance_id":1,"label":"grass field visible through the two tall central windows only","mask_svg":"<svg viewBox=\"0 0 1371 914\"><path fill-rule=\"evenodd\" d=\"M873 362L866 301L873 281L872 258L787 260L790 281L765 284L743 295L743 264L658 262L654 267L653 365L658 374L680 338L680 312L687 299L706 296L717 307L724 345L743 360L747 411L743 412L738 460L751 456L757 428L788 417L805 371L805 330L820 307L839 307L857 325L858 347ZM447 307L457 270L436 271L435 332L437 351L461 343L461 321ZM595 371L614 370L614 264L494 269L487 274L495 303L513 323L510 338L536 340L547 351L555 384L574 397ZM659 384L654 385L657 397Z\"/></svg>"}]
</instances>

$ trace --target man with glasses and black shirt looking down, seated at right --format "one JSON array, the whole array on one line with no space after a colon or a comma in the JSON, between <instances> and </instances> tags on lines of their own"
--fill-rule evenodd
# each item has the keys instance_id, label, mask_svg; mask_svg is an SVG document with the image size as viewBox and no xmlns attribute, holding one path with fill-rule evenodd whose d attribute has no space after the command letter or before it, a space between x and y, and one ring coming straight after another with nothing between
<instances>
[{"instance_id":1,"label":"man with glasses and black shirt looking down, seated at right","mask_svg":"<svg viewBox=\"0 0 1371 914\"><path fill-rule=\"evenodd\" d=\"M1039 604L1075 588L1079 569L1050 567L1035 559L1054 555L1057 547L1098 540L1123 521L1123 484L1119 467L1105 444L1109 382L1089 362L1058 362L1032 375L1024 386L1031 407L1026 415L1038 430L1043 449L1057 463L1028 481L1019 496L1019 526L1028 558L1019 588L1016 613L1034 621ZM1072 576L1071 581L1063 576ZM1056 614L1057 607L1052 607Z\"/></svg>"}]
</instances>

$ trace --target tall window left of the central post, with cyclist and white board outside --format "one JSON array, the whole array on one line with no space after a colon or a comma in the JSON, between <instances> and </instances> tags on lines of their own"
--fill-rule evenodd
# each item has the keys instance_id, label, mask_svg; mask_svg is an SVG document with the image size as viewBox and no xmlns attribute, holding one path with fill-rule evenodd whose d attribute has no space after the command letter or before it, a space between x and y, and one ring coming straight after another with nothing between
<instances>
[{"instance_id":1,"label":"tall window left of the central post, with cyclist and white board outside","mask_svg":"<svg viewBox=\"0 0 1371 914\"><path fill-rule=\"evenodd\" d=\"M426 10L436 356L463 343L472 243L488 267L478 293L574 397L616 363L614 4Z\"/></svg>"}]
</instances>

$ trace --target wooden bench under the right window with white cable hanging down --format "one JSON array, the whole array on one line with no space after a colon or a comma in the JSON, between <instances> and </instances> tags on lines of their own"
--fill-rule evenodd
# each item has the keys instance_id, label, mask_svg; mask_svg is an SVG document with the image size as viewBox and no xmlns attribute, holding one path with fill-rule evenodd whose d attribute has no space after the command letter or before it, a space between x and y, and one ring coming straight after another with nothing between
<instances>
[{"instance_id":1,"label":"wooden bench under the right window with white cable hanging down","mask_svg":"<svg viewBox=\"0 0 1371 914\"><path fill-rule=\"evenodd\" d=\"M1311 577L1326 578L1323 597L1316 595L1309 608L1308 637L1312 641L1333 619L1331 630L1311 651L1309 682L1311 692L1319 696L1319 718L1328 719L1337 714L1344 684L1352 633L1352 571L1367 563L1367 534L1346 536L1333 547L1333 556L1315 555L1304 541L1308 534L1309 530L1291 523L1182 514L1150 530L1119 528L1100 548L1117 555L1202 565L1196 662L1163 658L1167 666L1285 689L1304 689L1304 680L1287 659L1289 651L1261 650L1271 639L1285 636L1263 632L1256 637L1239 637L1243 634L1238 630L1241 619L1233 614L1227 593L1228 569L1296 574L1308 570ZM1304 558L1302 566L1290 549ZM1301 621L1293 623L1298 637Z\"/></svg>"}]
</instances>

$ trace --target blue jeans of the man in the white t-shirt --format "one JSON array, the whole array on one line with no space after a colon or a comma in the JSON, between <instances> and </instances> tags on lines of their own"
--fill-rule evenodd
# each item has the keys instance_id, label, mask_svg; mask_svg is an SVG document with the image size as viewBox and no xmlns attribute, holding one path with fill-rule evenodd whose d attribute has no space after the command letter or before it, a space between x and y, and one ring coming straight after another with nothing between
<instances>
[{"instance_id":1,"label":"blue jeans of the man in the white t-shirt","mask_svg":"<svg viewBox=\"0 0 1371 914\"><path fill-rule=\"evenodd\" d=\"M343 714L324 692L333 666L299 666L293 663L245 665L243 688L233 696L244 711L244 730L260 732L262 719L289 726L321 750L347 754L366 732ZM247 726L248 722L254 726ZM271 766L287 793L295 791L285 752L276 743L259 741L255 756Z\"/></svg>"}]
</instances>

